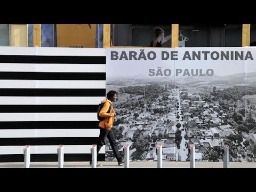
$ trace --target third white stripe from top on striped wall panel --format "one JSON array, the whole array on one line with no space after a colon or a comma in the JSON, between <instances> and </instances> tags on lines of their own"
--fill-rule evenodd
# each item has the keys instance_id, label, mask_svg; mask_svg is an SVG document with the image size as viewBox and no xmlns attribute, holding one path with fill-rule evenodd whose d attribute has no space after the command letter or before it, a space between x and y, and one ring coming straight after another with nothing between
<instances>
[{"instance_id":1,"label":"third white stripe from top on striped wall panel","mask_svg":"<svg viewBox=\"0 0 256 192\"><path fill-rule=\"evenodd\" d=\"M35 87L37 85L37 87ZM106 81L0 80L1 88L25 89L106 89Z\"/></svg>"}]
</instances>

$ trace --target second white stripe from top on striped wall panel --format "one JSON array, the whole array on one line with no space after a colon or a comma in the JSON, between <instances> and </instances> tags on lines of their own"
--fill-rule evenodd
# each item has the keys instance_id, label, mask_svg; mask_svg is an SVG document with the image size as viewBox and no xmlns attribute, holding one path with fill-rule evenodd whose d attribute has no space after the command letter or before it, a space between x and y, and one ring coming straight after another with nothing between
<instances>
[{"instance_id":1,"label":"second white stripe from top on striped wall panel","mask_svg":"<svg viewBox=\"0 0 256 192\"><path fill-rule=\"evenodd\" d=\"M0 63L0 71L105 73L106 64Z\"/></svg>"}]
</instances>

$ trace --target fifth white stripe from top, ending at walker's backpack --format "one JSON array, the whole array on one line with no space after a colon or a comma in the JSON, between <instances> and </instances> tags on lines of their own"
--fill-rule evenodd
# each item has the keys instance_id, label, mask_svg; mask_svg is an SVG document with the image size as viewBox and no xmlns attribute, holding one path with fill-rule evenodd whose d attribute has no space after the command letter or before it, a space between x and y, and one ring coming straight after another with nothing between
<instances>
[{"instance_id":1,"label":"fifth white stripe from top, ending at walker's backpack","mask_svg":"<svg viewBox=\"0 0 256 192\"><path fill-rule=\"evenodd\" d=\"M98 118L97 113L0 113L2 121L98 121Z\"/></svg>"}]
</instances>

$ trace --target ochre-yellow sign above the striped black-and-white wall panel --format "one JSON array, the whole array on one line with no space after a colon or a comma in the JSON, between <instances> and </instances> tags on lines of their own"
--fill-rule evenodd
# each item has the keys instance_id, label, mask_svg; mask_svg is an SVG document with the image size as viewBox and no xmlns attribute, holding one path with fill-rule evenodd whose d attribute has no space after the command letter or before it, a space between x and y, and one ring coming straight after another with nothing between
<instances>
[{"instance_id":1,"label":"ochre-yellow sign above the striped black-and-white wall panel","mask_svg":"<svg viewBox=\"0 0 256 192\"><path fill-rule=\"evenodd\" d=\"M95 24L57 24L58 47L95 47Z\"/></svg>"}]
</instances>

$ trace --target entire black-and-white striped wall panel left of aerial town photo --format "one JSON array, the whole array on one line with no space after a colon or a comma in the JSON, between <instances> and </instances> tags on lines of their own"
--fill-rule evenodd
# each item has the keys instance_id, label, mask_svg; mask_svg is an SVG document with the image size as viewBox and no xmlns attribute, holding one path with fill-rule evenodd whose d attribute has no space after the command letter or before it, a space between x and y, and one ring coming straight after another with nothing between
<instances>
[{"instance_id":1,"label":"entire black-and-white striped wall panel left of aerial town photo","mask_svg":"<svg viewBox=\"0 0 256 192\"><path fill-rule=\"evenodd\" d=\"M89 161L105 95L105 49L0 47L0 162Z\"/></svg>"}]
</instances>

